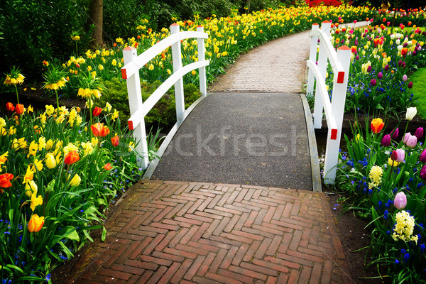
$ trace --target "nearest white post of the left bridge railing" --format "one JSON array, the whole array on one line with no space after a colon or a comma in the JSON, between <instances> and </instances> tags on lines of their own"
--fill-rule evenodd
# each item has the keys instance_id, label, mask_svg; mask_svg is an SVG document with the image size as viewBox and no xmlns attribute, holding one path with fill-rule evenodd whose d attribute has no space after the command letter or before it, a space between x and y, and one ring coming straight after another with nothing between
<instances>
[{"instance_id":1,"label":"nearest white post of the left bridge railing","mask_svg":"<svg viewBox=\"0 0 426 284\"><path fill-rule=\"evenodd\" d=\"M127 47L123 50L124 65L133 60L136 61L138 52L136 48ZM139 72L134 73L126 80L127 92L129 94L129 107L131 116L139 109L142 109L142 94L141 94L141 80L139 79ZM145 119L141 119L141 123L133 130L133 137L136 139L136 152L143 155L143 159L138 163L141 168L148 168L148 143L146 142L146 129Z\"/></svg>"}]
</instances>

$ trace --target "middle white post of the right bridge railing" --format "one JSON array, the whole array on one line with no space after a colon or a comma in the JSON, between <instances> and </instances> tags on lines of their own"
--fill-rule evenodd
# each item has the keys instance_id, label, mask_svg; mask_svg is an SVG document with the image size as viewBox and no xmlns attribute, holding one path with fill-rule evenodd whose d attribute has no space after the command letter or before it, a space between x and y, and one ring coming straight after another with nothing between
<instances>
[{"instance_id":1,"label":"middle white post of the right bridge railing","mask_svg":"<svg viewBox=\"0 0 426 284\"><path fill-rule=\"evenodd\" d=\"M330 28L332 23L329 21L323 21L321 23L321 31L328 36L330 36ZM325 78L327 72L327 51L325 50L324 43L320 42L320 52L318 53L318 69L320 69L321 75ZM320 129L322 123L322 109L324 108L322 104L322 99L317 94L320 94L319 85L315 88L315 104L314 104L314 128Z\"/></svg>"}]
</instances>

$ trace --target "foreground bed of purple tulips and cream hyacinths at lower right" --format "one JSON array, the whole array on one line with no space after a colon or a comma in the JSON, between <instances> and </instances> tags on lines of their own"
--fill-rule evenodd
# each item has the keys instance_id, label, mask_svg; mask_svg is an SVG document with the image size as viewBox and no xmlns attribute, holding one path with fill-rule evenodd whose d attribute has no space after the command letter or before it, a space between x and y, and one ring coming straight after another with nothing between
<instances>
[{"instance_id":1,"label":"foreground bed of purple tulips and cream hyacinths at lower right","mask_svg":"<svg viewBox=\"0 0 426 284\"><path fill-rule=\"evenodd\" d=\"M424 129L407 132L417 110L407 109L407 124L385 133L382 119L371 130L354 128L345 136L337 187L350 196L349 207L373 226L369 265L381 264L393 283L425 283L426 150ZM404 126L403 126L404 127ZM401 131L402 132L402 131Z\"/></svg>"}]
</instances>

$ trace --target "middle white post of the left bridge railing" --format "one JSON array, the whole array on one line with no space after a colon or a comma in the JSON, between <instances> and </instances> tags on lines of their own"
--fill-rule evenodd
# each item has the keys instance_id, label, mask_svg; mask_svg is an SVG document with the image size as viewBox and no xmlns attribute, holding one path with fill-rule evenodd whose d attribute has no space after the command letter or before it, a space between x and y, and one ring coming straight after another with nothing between
<instances>
[{"instance_id":1,"label":"middle white post of the left bridge railing","mask_svg":"<svg viewBox=\"0 0 426 284\"><path fill-rule=\"evenodd\" d=\"M170 26L170 34L179 33L179 25L173 23ZM180 41L172 45L173 72L177 72L182 68L182 52L180 50ZM183 80L182 77L175 82L175 101L176 101L176 120L179 121L185 111L185 99L183 97Z\"/></svg>"}]
</instances>

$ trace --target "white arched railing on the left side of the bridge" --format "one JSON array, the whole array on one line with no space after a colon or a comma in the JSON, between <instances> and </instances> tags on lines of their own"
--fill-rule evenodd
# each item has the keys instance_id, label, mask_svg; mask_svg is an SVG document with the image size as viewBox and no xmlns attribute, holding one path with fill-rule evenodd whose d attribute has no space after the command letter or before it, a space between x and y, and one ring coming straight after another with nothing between
<instances>
[{"instance_id":1,"label":"white arched railing on the left side of the bridge","mask_svg":"<svg viewBox=\"0 0 426 284\"><path fill-rule=\"evenodd\" d=\"M186 38L197 38L198 61L192 62L182 67L180 40ZM170 26L170 36L153 45L144 53L138 56L136 48L127 47L123 50L124 67L121 68L121 76L127 80L127 92L129 94L129 107L131 117L128 121L129 129L133 130L133 136L139 143L136 151L143 154L143 159L139 164L141 168L148 168L148 143L146 141L145 116L154 107L158 100L163 97L170 87L175 85L176 99L176 119L181 122L187 116L185 111L185 100L183 94L183 75L198 68L200 77L200 92L202 98L207 95L206 70L209 60L205 60L204 39L208 38L202 26L197 27L197 31L182 31L177 23ZM173 74L168 77L158 89L151 94L145 102L142 102L141 80L139 69L141 69L156 55L172 46ZM201 99L202 99L201 98Z\"/></svg>"}]
</instances>

